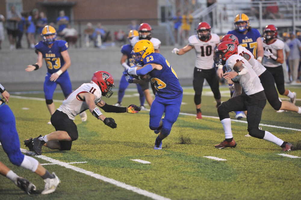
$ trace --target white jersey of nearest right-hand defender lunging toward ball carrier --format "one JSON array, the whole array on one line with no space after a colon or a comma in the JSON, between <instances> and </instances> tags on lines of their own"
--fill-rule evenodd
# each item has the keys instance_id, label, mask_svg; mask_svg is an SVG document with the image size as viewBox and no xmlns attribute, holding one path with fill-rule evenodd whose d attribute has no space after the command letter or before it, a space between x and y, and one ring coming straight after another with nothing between
<instances>
[{"instance_id":1,"label":"white jersey of nearest right-hand defender lunging toward ball carrier","mask_svg":"<svg viewBox=\"0 0 301 200\"><path fill-rule=\"evenodd\" d=\"M263 91L260 79L254 72L250 63L246 59L244 59L244 57L241 57L237 54L230 56L226 61L227 72L234 71L233 67L238 61L243 62L243 67L248 69L248 72L246 74L236 76L235 78L233 78L233 81L239 81L239 84L244 89L244 92L247 95Z\"/></svg>"}]
</instances>

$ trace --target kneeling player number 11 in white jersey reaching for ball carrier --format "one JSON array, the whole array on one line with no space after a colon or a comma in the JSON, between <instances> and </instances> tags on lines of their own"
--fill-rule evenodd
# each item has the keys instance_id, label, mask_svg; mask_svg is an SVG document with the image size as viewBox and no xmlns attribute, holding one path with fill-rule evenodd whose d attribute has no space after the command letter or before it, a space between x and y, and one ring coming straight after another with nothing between
<instances>
[{"instance_id":1,"label":"kneeling player number 11 in white jersey reaching for ball carrier","mask_svg":"<svg viewBox=\"0 0 301 200\"><path fill-rule=\"evenodd\" d=\"M105 125L110 128L116 128L115 120L104 116L98 107L105 112L116 113L137 113L141 110L140 107L135 105L118 107L108 105L101 100L101 96L107 98L112 96L113 87L114 80L110 73L105 71L95 72L90 83L84 83L73 91L53 113L51 124L54 126L55 131L45 136L40 135L34 139L25 140L24 144L37 155L42 154L43 145L50 149L70 150L72 142L78 138L77 127L73 120L79 113L89 109L92 115L103 121Z\"/></svg>"}]
</instances>

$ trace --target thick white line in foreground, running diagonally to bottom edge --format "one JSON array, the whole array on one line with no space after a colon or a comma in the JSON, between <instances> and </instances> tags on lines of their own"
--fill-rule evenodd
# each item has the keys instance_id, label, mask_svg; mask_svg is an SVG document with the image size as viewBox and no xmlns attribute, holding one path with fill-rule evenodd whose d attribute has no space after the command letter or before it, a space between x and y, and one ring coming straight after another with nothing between
<instances>
[{"instance_id":1,"label":"thick white line in foreground, running diagonally to bottom edge","mask_svg":"<svg viewBox=\"0 0 301 200\"><path fill-rule=\"evenodd\" d=\"M22 152L28 152L26 149L22 149L20 148ZM48 162L51 162L51 163L55 163L57 165L60 165L62 167L65 167L65 168L68 168L68 169L72 169L74 171L77 171L77 172L80 172L80 173L83 173L83 174L86 174L88 176L91 176L91 177L94 177L96 179L99 179L99 180L103 180L105 182L108 182L108 183L111 183L113 185L116 185L118 187L121 187L121 188L124 188L124 189L127 189L127 190L131 190L133 192L136 192L138 194L141 194L141 195L144 195L144 196L147 196L149 198L152 198L152 199L155 199L155 200L171 200L170 198L166 198L166 197L163 197L163 196L160 196L160 195L157 195L155 193L152 193L152 192L148 192L144 189L140 189L138 187L134 187L134 186L131 186L131 185L128 185L126 183L123 183L123 182L119 182L117 180L114 180L114 179L111 179L111 178L108 178L108 177L105 177L105 176L101 176L100 174L95 174L94 172L92 171L87 171L87 170L84 170L82 168L79 168L79 167L75 167L75 166L72 166L66 162L61 162L59 160L55 160L53 158L49 158L45 155L36 155L35 157L37 158L41 158L43 160L46 160Z\"/></svg>"}]
</instances>

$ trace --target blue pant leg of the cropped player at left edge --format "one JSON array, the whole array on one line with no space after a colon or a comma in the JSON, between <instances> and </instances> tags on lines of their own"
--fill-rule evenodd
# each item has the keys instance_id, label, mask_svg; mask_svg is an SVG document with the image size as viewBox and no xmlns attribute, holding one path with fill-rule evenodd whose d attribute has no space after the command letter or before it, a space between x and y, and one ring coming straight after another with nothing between
<instances>
[{"instance_id":1,"label":"blue pant leg of the cropped player at left edge","mask_svg":"<svg viewBox=\"0 0 301 200\"><path fill-rule=\"evenodd\" d=\"M0 106L0 142L11 163L20 166L24 155L20 150L15 116L9 106L5 104Z\"/></svg>"}]
</instances>

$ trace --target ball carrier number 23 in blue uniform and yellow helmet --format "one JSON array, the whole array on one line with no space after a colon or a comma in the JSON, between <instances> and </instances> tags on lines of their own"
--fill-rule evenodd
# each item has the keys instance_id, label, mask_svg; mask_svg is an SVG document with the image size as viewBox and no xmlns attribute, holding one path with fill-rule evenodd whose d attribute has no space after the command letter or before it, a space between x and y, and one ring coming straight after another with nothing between
<instances>
[{"instance_id":1,"label":"ball carrier number 23 in blue uniform and yellow helmet","mask_svg":"<svg viewBox=\"0 0 301 200\"><path fill-rule=\"evenodd\" d=\"M162 140L166 138L172 125L178 118L183 98L183 89L175 71L169 62L159 53L149 40L139 40L133 46L132 61L135 67L129 68L129 75L149 75L156 89L151 105L149 128L159 134L154 149L162 149ZM141 65L138 67L138 65ZM128 80L130 80L128 78ZM165 117L161 119L163 112Z\"/></svg>"}]
</instances>

